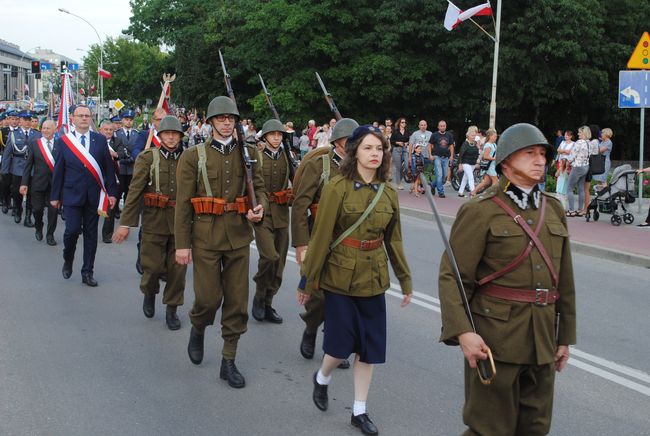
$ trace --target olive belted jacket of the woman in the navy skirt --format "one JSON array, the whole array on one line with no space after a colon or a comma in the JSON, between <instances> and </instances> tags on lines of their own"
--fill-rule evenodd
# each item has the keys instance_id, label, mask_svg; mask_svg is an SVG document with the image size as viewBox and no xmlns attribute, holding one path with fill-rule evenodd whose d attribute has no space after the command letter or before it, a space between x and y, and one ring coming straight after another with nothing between
<instances>
[{"instance_id":1,"label":"olive belted jacket of the woman in the navy skirt","mask_svg":"<svg viewBox=\"0 0 650 436\"><path fill-rule=\"evenodd\" d=\"M330 244L359 219L375 194L367 186L355 189L354 182L342 175L332 179L323 189L302 268L312 289L320 288L355 297L382 294L390 287L390 259L402 293L410 294L413 291L411 272L402 245L397 193L388 185L372 212L349 236L358 240L374 240L383 235L383 247L362 251L339 244L331 252L329 250Z\"/></svg>"}]
</instances>

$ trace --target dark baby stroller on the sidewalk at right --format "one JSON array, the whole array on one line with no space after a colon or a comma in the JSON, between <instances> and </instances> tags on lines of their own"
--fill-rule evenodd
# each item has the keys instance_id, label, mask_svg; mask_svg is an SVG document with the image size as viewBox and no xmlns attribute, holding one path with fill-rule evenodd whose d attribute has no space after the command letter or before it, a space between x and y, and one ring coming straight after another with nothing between
<instances>
[{"instance_id":1,"label":"dark baby stroller on the sidewalk at right","mask_svg":"<svg viewBox=\"0 0 650 436\"><path fill-rule=\"evenodd\" d=\"M594 221L598 221L601 213L611 213L611 222L614 226L620 226L621 222L632 224L634 215L625 209L626 204L634 203L634 175L636 171L630 165L621 165L614 168L612 178L607 187L596 191L596 196L587 207L585 219L587 222L591 219L593 210ZM623 214L618 213L619 206Z\"/></svg>"}]
</instances>

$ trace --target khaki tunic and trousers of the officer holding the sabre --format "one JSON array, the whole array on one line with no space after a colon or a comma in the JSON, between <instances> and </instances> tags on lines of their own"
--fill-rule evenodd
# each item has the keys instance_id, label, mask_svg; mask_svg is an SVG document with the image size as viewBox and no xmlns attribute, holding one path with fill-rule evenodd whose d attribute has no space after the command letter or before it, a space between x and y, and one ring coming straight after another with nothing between
<instances>
[{"instance_id":1,"label":"khaki tunic and trousers of the officer holding the sabre","mask_svg":"<svg viewBox=\"0 0 650 436\"><path fill-rule=\"evenodd\" d=\"M555 304L537 306L477 293L476 283L508 265L529 241L523 229L490 198L498 196L533 229L541 214L539 209L518 208L504 193L506 183L507 179L502 177L499 185L465 203L449 238L476 330L492 350L497 364L495 382L487 387L479 383L476 370L465 365L463 416L470 427L467 434L546 434L551 422L557 345L576 341L569 234L562 205L553 196L542 193L547 200L546 217L538 237L558 273L560 299ZM553 289L550 272L536 248L521 265L492 283L518 289ZM440 339L454 343L458 335L471 331L471 326L446 254L440 264L438 289L442 309ZM557 342L556 312L560 314Z\"/></svg>"}]
</instances>

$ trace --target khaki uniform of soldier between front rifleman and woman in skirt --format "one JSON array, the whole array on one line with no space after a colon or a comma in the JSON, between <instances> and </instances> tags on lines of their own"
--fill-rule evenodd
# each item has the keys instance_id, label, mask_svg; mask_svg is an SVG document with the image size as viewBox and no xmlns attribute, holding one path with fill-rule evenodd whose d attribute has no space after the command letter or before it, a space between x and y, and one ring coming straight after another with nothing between
<instances>
[{"instance_id":1,"label":"khaki uniform of soldier between front rifleman and woman in skirt","mask_svg":"<svg viewBox=\"0 0 650 436\"><path fill-rule=\"evenodd\" d=\"M282 149L279 149L282 150ZM266 191L270 194L287 189L289 184L287 159L280 151L278 159L264 152L258 154L262 162L262 174ZM264 219L254 225L255 242L259 251L257 274L253 280L257 284L255 297L262 298L271 306L273 297L282 285L282 274L289 249L289 205L269 202Z\"/></svg>"}]
</instances>

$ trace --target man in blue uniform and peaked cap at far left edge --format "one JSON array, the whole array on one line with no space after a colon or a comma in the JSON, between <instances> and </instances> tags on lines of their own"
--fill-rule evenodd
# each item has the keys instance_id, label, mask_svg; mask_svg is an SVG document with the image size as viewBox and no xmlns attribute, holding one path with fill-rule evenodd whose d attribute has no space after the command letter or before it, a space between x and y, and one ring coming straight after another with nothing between
<instances>
[{"instance_id":1,"label":"man in blue uniform and peaked cap at far left edge","mask_svg":"<svg viewBox=\"0 0 650 436\"><path fill-rule=\"evenodd\" d=\"M32 115L29 112L20 113L20 128L12 130L9 141L2 156L0 173L5 180L10 180L10 192L14 202L14 222L19 224L23 214L23 196L20 194L20 184L23 171L29 157L28 143L41 137L41 133L31 130ZM31 194L27 194L25 205L25 227L34 227L32 222Z\"/></svg>"}]
</instances>

